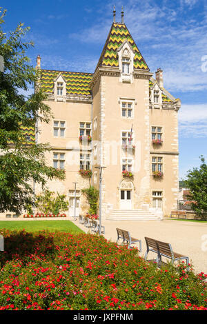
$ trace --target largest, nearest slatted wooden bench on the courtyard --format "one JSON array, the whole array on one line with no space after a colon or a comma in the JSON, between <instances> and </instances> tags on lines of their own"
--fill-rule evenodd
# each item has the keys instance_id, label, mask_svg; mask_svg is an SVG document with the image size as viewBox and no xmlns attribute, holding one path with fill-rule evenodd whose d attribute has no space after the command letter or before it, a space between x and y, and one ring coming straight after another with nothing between
<instances>
[{"instance_id":1,"label":"largest, nearest slatted wooden bench on the courtyard","mask_svg":"<svg viewBox=\"0 0 207 324\"><path fill-rule=\"evenodd\" d=\"M157 241L155 239L150 239L149 237L145 237L145 240L147 246L146 254L144 257L145 260L147 259L148 252L152 251L157 254L156 262L159 266L161 266L162 263L161 257L164 256L172 261L172 265L175 261L182 260L182 259L186 260L186 265L188 270L188 264L189 264L188 256L173 252L170 243Z\"/></svg>"}]
</instances>

